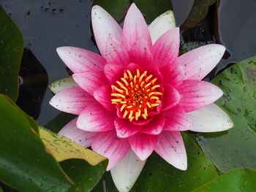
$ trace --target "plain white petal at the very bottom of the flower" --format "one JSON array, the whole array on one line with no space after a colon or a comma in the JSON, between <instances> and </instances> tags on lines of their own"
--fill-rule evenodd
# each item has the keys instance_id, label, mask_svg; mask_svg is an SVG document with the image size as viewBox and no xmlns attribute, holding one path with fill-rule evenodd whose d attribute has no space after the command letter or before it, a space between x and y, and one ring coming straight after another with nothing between
<instances>
[{"instance_id":1,"label":"plain white petal at the very bottom of the flower","mask_svg":"<svg viewBox=\"0 0 256 192\"><path fill-rule=\"evenodd\" d=\"M132 150L110 172L118 191L128 192L138 179L146 161L140 161Z\"/></svg>"}]
</instances>

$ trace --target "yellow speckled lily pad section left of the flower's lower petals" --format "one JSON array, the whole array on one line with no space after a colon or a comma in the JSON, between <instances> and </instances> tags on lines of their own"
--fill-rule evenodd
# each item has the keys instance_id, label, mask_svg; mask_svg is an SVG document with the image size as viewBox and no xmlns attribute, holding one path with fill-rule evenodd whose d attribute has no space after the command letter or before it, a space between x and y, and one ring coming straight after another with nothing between
<instances>
[{"instance_id":1,"label":"yellow speckled lily pad section left of the flower's lower petals","mask_svg":"<svg viewBox=\"0 0 256 192\"><path fill-rule=\"evenodd\" d=\"M64 161L70 158L86 160L90 165L97 165L106 158L92 150L86 149L75 142L55 134L48 129L39 128L39 135L50 153L57 161Z\"/></svg>"}]
</instances>

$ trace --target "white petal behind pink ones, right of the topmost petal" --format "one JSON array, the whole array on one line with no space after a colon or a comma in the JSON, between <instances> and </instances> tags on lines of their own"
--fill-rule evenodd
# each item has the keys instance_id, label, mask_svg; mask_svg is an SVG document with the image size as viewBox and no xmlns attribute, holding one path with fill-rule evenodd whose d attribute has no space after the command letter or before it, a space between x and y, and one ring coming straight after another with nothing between
<instances>
[{"instance_id":1,"label":"white petal behind pink ones, right of the topmost petal","mask_svg":"<svg viewBox=\"0 0 256 192\"><path fill-rule=\"evenodd\" d=\"M157 39L169 31L171 28L176 27L176 21L173 11L169 10L159 15L153 22L148 26L152 43L157 42Z\"/></svg>"}]
</instances>

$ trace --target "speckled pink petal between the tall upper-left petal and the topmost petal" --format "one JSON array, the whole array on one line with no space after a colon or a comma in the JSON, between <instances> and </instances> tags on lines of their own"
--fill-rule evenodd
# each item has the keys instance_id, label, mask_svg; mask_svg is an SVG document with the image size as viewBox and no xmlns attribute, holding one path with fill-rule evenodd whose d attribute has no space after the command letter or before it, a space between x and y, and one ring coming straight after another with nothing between
<instances>
[{"instance_id":1,"label":"speckled pink petal between the tall upper-left petal and the topmost petal","mask_svg":"<svg viewBox=\"0 0 256 192\"><path fill-rule=\"evenodd\" d=\"M127 66L129 64L129 54L115 39L108 37L105 58L108 64Z\"/></svg>"}]
</instances>

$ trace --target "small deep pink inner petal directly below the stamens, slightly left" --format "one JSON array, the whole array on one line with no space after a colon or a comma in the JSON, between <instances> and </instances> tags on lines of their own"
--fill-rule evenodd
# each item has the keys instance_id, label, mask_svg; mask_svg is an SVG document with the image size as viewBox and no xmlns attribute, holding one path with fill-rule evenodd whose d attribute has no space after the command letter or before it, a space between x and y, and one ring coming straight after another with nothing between
<instances>
[{"instance_id":1,"label":"small deep pink inner petal directly below the stamens, slightly left","mask_svg":"<svg viewBox=\"0 0 256 192\"><path fill-rule=\"evenodd\" d=\"M116 126L116 134L118 137L126 138L130 137L142 128L142 126L135 126L132 123L129 122L129 120L124 120L120 118L116 118L115 120L115 126Z\"/></svg>"}]
</instances>

